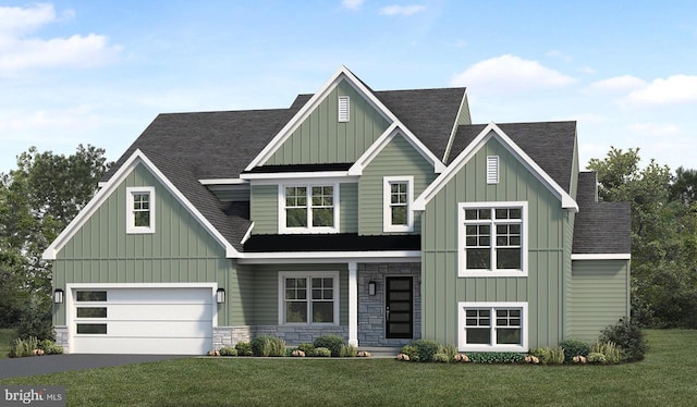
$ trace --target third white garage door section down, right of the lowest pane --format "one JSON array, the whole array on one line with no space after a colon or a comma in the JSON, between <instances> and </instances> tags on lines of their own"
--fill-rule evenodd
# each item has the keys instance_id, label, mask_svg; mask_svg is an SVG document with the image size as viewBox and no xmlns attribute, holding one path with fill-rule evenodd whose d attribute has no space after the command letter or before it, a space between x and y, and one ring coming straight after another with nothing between
<instances>
[{"instance_id":1,"label":"third white garage door section down, right of the lowest pane","mask_svg":"<svg viewBox=\"0 0 697 407\"><path fill-rule=\"evenodd\" d=\"M209 337L212 333L208 321L109 321L109 337Z\"/></svg>"}]
</instances>

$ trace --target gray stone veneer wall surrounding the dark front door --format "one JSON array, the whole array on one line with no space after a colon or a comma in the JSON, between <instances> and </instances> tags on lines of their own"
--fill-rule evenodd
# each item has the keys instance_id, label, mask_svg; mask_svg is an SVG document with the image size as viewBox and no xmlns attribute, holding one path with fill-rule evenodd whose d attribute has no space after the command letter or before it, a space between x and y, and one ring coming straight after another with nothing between
<instances>
[{"instance_id":1,"label":"gray stone veneer wall surrounding the dark front door","mask_svg":"<svg viewBox=\"0 0 697 407\"><path fill-rule=\"evenodd\" d=\"M384 337L384 288L387 276L414 278L414 337ZM358 345L401 347L421 337L420 263L359 263L358 264ZM368 295L368 282L377 282L376 295Z\"/></svg>"}]
</instances>

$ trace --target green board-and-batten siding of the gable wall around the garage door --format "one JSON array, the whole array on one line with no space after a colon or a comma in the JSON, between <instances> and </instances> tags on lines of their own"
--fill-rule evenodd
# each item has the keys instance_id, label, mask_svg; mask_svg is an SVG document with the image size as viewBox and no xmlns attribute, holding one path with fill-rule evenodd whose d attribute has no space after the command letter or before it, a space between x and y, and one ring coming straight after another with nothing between
<instances>
[{"instance_id":1,"label":"green board-and-batten siding of the gable wall around the garage door","mask_svg":"<svg viewBox=\"0 0 697 407\"><path fill-rule=\"evenodd\" d=\"M126 187L155 186L156 233L126 234ZM90 219L58 252L53 285L68 283L203 283L217 282L237 291L236 273L225 249L143 165L132 171ZM239 298L218 312L219 324L239 323L230 310ZM60 305L54 323L65 324Z\"/></svg>"}]
</instances>

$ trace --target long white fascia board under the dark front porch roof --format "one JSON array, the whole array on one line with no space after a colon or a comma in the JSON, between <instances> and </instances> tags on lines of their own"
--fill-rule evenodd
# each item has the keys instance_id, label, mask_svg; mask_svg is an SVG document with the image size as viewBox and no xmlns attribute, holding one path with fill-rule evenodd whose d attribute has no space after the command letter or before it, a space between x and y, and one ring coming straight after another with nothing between
<instances>
[{"instance_id":1,"label":"long white fascia board under the dark front porch roof","mask_svg":"<svg viewBox=\"0 0 697 407\"><path fill-rule=\"evenodd\" d=\"M333 263L333 262L419 262L419 250L392 251L280 251L245 252L239 258L242 264L269 263Z\"/></svg>"}]
</instances>

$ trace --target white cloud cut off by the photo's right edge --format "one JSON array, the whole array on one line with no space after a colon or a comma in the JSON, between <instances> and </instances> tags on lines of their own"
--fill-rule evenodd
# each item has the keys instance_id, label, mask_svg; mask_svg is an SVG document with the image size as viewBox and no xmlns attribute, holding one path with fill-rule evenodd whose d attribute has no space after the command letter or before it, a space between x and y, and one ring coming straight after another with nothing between
<instances>
[{"instance_id":1,"label":"white cloud cut off by the photo's right edge","mask_svg":"<svg viewBox=\"0 0 697 407\"><path fill-rule=\"evenodd\" d=\"M632 91L625 99L637 104L671 104L697 101L697 76L673 75L658 78L648 86Z\"/></svg>"}]
</instances>

